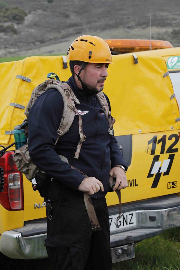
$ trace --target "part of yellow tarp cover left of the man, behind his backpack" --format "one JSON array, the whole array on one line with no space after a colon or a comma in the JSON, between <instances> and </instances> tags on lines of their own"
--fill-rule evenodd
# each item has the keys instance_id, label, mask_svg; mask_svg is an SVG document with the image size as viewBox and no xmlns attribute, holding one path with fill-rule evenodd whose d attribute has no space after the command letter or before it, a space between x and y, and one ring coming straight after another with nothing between
<instances>
[{"instance_id":1,"label":"part of yellow tarp cover left of the man, behind his backpack","mask_svg":"<svg viewBox=\"0 0 180 270\"><path fill-rule=\"evenodd\" d=\"M13 135L5 131L13 130L26 118L24 110L9 106L17 103L26 107L32 90L43 82L49 72L58 74L60 80L66 81L71 75L69 68L63 68L62 56L33 56L20 61L0 63L0 143L13 143ZM26 82L17 79L16 75L23 75L31 79Z\"/></svg>"}]
</instances>

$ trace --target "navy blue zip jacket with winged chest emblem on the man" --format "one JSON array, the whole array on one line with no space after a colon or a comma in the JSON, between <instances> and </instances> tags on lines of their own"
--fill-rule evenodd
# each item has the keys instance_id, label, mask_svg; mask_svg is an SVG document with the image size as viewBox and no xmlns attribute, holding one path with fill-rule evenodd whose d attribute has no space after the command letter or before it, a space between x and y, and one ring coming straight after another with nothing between
<instances>
[{"instance_id":1,"label":"navy blue zip jacket with winged chest emblem on the man","mask_svg":"<svg viewBox=\"0 0 180 270\"><path fill-rule=\"evenodd\" d=\"M38 168L73 190L77 190L84 176L71 169L70 165L88 177L94 176L103 183L104 192L100 190L92 197L103 197L110 191L108 185L110 161L111 167L117 164L126 167L126 164L116 139L108 134L107 119L96 96L86 95L85 90L77 87L73 76L67 83L80 101L80 104L76 104L76 108L88 112L82 115L86 141L82 143L79 159L74 158L80 140L77 115L69 131L54 146L63 113L63 99L56 89L49 89L40 95L30 109L28 121L30 158ZM108 98L107 101L109 103ZM61 161L58 155L66 157L70 165Z\"/></svg>"}]
</instances>

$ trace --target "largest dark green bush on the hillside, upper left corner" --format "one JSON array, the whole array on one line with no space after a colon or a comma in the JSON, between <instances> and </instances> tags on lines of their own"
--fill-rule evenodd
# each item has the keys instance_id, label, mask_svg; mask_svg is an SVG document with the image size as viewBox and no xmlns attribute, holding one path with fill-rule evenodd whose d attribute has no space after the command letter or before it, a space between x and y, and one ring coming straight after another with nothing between
<instances>
[{"instance_id":1,"label":"largest dark green bush on the hillside, upper left corner","mask_svg":"<svg viewBox=\"0 0 180 270\"><path fill-rule=\"evenodd\" d=\"M5 7L0 11L0 22L22 23L26 15L20 7Z\"/></svg>"}]
</instances>

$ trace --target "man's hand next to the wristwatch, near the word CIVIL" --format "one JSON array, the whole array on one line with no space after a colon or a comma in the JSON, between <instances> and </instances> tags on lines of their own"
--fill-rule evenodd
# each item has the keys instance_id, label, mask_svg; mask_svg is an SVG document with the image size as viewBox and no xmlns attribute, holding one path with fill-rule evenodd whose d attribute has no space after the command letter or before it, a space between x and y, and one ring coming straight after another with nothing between
<instances>
[{"instance_id":1,"label":"man's hand next to the wristwatch, near the word CIVIL","mask_svg":"<svg viewBox=\"0 0 180 270\"><path fill-rule=\"evenodd\" d=\"M114 191L116 189L120 190L128 186L125 171L122 168L114 167L113 169L110 170L110 176L116 177L116 184L113 188Z\"/></svg>"}]
</instances>

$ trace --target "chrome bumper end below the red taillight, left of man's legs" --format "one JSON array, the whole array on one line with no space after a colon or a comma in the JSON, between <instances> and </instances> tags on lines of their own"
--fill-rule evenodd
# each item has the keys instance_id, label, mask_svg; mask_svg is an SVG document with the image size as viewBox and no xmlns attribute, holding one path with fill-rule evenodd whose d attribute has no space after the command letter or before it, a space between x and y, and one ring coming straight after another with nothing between
<instances>
[{"instance_id":1,"label":"chrome bumper end below the red taillight, left of man's legs","mask_svg":"<svg viewBox=\"0 0 180 270\"><path fill-rule=\"evenodd\" d=\"M0 251L13 259L46 258L46 236L46 219L31 220L22 228L3 232Z\"/></svg>"}]
</instances>

